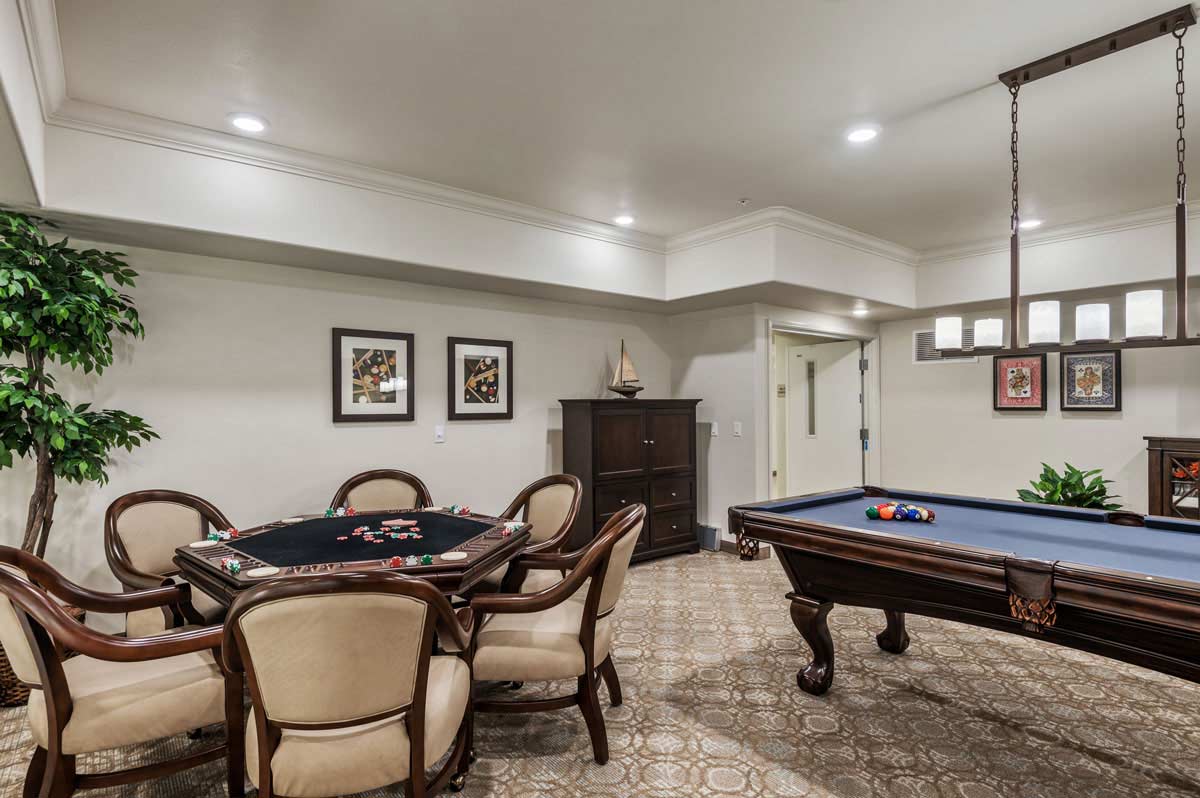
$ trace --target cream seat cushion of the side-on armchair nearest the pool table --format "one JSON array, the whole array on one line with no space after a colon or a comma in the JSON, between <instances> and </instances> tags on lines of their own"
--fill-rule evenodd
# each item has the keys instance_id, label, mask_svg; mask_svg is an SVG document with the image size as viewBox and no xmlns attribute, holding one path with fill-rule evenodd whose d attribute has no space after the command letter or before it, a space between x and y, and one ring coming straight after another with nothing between
<instances>
[{"instance_id":1,"label":"cream seat cushion of the side-on armchair nearest the pool table","mask_svg":"<svg viewBox=\"0 0 1200 798\"><path fill-rule=\"evenodd\" d=\"M496 682L550 682L582 676L580 644L583 602L570 599L542 612L498 613L479 630L475 678ZM608 656L612 625L596 622L595 662Z\"/></svg>"}]
</instances>

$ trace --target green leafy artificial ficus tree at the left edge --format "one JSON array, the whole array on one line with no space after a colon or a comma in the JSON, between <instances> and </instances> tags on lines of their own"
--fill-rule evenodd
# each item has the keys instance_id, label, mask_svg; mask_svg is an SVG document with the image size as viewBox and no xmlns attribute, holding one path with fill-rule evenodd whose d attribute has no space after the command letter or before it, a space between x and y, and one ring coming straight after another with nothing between
<instances>
[{"instance_id":1,"label":"green leafy artificial ficus tree at the left edge","mask_svg":"<svg viewBox=\"0 0 1200 798\"><path fill-rule=\"evenodd\" d=\"M0 208L0 469L36 464L22 548L46 552L55 482L108 481L109 452L132 451L158 436L121 410L71 404L55 388L53 365L101 373L113 340L142 337L133 300L120 288L137 272L121 253L50 244L46 220Z\"/></svg>"}]
</instances>

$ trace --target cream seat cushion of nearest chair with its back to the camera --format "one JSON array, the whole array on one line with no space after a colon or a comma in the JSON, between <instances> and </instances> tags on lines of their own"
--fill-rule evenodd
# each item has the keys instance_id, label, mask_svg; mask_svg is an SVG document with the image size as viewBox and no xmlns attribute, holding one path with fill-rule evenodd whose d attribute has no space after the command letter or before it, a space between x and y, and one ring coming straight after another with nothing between
<instances>
[{"instance_id":1,"label":"cream seat cushion of nearest chair with its back to the camera","mask_svg":"<svg viewBox=\"0 0 1200 798\"><path fill-rule=\"evenodd\" d=\"M425 767L450 750L470 698L470 668L457 656L430 658L425 703ZM257 708L246 725L246 775L258 786ZM320 798L374 790L408 779L404 716L346 728L284 728L271 758L275 794Z\"/></svg>"}]
</instances>

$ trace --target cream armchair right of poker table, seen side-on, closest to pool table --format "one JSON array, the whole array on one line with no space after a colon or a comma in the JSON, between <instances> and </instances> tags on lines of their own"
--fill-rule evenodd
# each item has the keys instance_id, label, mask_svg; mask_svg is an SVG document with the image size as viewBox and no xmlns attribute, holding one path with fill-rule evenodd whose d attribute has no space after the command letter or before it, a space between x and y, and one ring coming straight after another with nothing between
<instances>
[{"instance_id":1,"label":"cream armchair right of poker table, seen side-on, closest to pool table","mask_svg":"<svg viewBox=\"0 0 1200 798\"><path fill-rule=\"evenodd\" d=\"M586 547L570 554L534 553L522 558L530 569L566 569L557 584L529 594L484 594L472 599L479 617L494 613L475 632L475 678L486 682L576 679L574 695L532 701L478 700L475 712L547 712L578 706L592 737L595 761L608 761L608 734L600 713L599 683L620 704L620 683L612 664L612 612L617 607L646 505L634 504L612 516ZM586 590L582 600L572 596Z\"/></svg>"}]
</instances>

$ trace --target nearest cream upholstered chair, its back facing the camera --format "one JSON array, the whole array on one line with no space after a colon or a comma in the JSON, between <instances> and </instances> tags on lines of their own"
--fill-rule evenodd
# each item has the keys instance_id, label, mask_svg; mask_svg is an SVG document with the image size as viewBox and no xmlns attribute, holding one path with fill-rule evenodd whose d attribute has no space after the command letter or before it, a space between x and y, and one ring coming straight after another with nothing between
<instances>
[{"instance_id":1,"label":"nearest cream upholstered chair, its back facing the camera","mask_svg":"<svg viewBox=\"0 0 1200 798\"><path fill-rule=\"evenodd\" d=\"M472 613L461 612L428 582L385 572L278 580L234 600L223 656L250 682L246 767L260 798L461 788L472 736ZM436 628L460 654L431 655Z\"/></svg>"}]
</instances>

